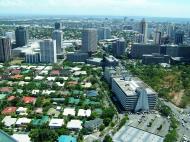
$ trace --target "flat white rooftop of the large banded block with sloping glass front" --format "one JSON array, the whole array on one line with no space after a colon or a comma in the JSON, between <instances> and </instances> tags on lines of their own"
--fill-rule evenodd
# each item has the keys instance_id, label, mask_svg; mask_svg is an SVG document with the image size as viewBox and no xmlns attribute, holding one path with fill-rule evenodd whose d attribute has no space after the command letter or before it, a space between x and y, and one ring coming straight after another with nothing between
<instances>
[{"instance_id":1,"label":"flat white rooftop of the large banded block with sloping glass front","mask_svg":"<svg viewBox=\"0 0 190 142\"><path fill-rule=\"evenodd\" d=\"M116 77L113 78L113 80L118 84L118 86L120 86L127 96L137 95L135 92L137 88L144 88L147 94L157 94L151 87L137 77L131 77L128 80L125 80L122 77Z\"/></svg>"}]
</instances>

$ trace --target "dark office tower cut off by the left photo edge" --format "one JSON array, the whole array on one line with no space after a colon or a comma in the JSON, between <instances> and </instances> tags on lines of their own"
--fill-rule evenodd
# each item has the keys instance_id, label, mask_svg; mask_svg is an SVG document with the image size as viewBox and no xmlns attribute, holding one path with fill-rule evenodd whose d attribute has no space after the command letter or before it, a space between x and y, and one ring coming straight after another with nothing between
<instances>
[{"instance_id":1,"label":"dark office tower cut off by the left photo edge","mask_svg":"<svg viewBox=\"0 0 190 142\"><path fill-rule=\"evenodd\" d=\"M11 40L0 37L0 62L7 62L11 58Z\"/></svg>"}]
</instances>

